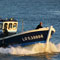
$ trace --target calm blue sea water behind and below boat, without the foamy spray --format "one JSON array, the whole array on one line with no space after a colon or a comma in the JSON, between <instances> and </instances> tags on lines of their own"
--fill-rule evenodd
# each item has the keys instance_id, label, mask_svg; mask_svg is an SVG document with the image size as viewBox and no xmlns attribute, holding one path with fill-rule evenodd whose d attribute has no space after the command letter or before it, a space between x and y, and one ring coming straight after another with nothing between
<instances>
[{"instance_id":1,"label":"calm blue sea water behind and below boat, without the foamy spray","mask_svg":"<svg viewBox=\"0 0 60 60\"><path fill-rule=\"evenodd\" d=\"M54 44L60 44L60 0L0 0L0 18L14 17L18 20L18 32L35 29L40 21L44 27L53 25L56 29L51 38ZM59 45L60 46L60 45ZM0 48L0 51L4 49ZM9 50L10 51L10 50ZM26 52L28 53L28 52ZM35 56L15 56L0 54L0 60L59 60L60 54L37 54Z\"/></svg>"}]
</instances>

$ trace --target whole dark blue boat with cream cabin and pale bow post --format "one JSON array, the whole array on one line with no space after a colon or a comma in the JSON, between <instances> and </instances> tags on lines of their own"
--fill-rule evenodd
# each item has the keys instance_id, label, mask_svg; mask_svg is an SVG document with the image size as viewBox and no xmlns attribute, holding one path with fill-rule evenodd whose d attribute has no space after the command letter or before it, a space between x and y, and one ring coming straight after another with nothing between
<instances>
[{"instance_id":1,"label":"whole dark blue boat with cream cabin and pale bow post","mask_svg":"<svg viewBox=\"0 0 60 60\"><path fill-rule=\"evenodd\" d=\"M14 44L28 46L35 43L46 43L55 32L55 29L51 26L16 33L17 26L18 22L14 19L0 20L0 47L7 47Z\"/></svg>"}]
</instances>

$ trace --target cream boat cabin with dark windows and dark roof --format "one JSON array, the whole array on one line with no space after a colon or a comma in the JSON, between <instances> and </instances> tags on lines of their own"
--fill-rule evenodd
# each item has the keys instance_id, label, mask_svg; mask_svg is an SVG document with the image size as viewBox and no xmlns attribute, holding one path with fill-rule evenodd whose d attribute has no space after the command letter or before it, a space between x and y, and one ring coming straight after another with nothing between
<instances>
[{"instance_id":1,"label":"cream boat cabin with dark windows and dark roof","mask_svg":"<svg viewBox=\"0 0 60 60\"><path fill-rule=\"evenodd\" d=\"M0 20L0 30L3 33L16 33L18 27L18 22L13 18L8 20Z\"/></svg>"}]
</instances>

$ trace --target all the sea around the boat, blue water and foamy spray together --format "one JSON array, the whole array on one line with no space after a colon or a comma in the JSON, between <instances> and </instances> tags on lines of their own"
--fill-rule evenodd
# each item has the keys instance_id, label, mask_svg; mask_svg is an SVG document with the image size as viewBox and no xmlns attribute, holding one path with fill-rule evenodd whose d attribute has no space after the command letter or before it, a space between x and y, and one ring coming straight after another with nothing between
<instances>
[{"instance_id":1,"label":"all the sea around the boat, blue water and foamy spray together","mask_svg":"<svg viewBox=\"0 0 60 60\"><path fill-rule=\"evenodd\" d=\"M59 60L60 59L60 0L0 0L0 18L18 20L18 33L33 30L42 21L43 27L55 28L48 44L28 47L0 48L0 60ZM48 52L48 53L46 53Z\"/></svg>"}]
</instances>

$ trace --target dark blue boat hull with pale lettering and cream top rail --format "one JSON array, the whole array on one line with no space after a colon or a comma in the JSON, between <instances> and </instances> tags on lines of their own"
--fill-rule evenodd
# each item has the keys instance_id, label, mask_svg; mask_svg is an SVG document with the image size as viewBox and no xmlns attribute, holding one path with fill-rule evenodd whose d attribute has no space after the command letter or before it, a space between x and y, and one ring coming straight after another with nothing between
<instances>
[{"instance_id":1,"label":"dark blue boat hull with pale lettering and cream top rail","mask_svg":"<svg viewBox=\"0 0 60 60\"><path fill-rule=\"evenodd\" d=\"M42 28L42 29L36 29L23 33L14 34L11 36L2 37L0 38L0 47L14 45L14 44L27 46L38 42L46 43L48 32L49 32L48 28Z\"/></svg>"}]
</instances>

